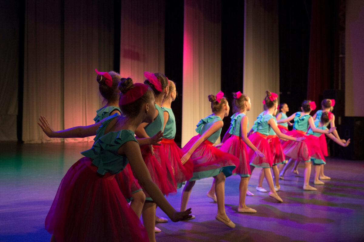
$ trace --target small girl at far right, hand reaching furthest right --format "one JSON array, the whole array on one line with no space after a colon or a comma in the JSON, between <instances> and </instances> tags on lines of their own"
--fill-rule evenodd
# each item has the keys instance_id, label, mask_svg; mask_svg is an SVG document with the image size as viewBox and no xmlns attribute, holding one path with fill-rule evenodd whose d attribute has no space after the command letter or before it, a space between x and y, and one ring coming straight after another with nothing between
<instances>
[{"instance_id":1,"label":"small girl at far right, hand reaching furthest right","mask_svg":"<svg viewBox=\"0 0 364 242\"><path fill-rule=\"evenodd\" d=\"M329 122L333 119L332 112L324 111L321 113L320 120L315 120L314 124L317 128L322 130L327 130L327 126ZM315 166L315 185L323 185L324 182L320 181L319 176L321 174L321 166L326 164L325 155L321 149L320 145L320 136L323 134L313 132L312 129L309 129L307 132L310 144L311 144L311 160L313 161L313 165ZM348 139L345 143L341 140L337 139L333 134L326 134L330 139L335 141L335 143L347 147L350 144L350 139Z\"/></svg>"}]
</instances>

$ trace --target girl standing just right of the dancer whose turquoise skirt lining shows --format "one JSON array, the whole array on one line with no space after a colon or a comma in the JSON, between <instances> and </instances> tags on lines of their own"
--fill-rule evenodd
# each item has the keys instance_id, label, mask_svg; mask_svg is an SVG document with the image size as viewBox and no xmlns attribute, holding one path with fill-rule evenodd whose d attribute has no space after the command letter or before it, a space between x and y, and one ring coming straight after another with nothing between
<instances>
[{"instance_id":1,"label":"girl standing just right of the dancer whose turquoise skirt lining shows","mask_svg":"<svg viewBox=\"0 0 364 242\"><path fill-rule=\"evenodd\" d=\"M234 93L233 111L229 129L226 131L220 150L236 156L240 163L234 169L233 174L239 175L239 213L256 213L257 210L249 208L245 204L246 191L248 190L248 181L251 175L249 166L249 157L246 145L254 151L257 156L264 157L264 154L255 147L247 137L249 120L246 112L250 110L252 103L250 98L240 91ZM211 195L210 195L211 196Z\"/></svg>"}]
</instances>

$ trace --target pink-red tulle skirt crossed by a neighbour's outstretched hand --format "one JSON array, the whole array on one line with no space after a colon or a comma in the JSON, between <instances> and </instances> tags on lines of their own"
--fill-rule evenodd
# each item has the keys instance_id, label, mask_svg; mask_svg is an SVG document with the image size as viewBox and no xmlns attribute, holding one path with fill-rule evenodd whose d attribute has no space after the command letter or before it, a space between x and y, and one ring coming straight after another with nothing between
<instances>
[{"instance_id":1,"label":"pink-red tulle skirt crossed by a neighbour's outstretched hand","mask_svg":"<svg viewBox=\"0 0 364 242\"><path fill-rule=\"evenodd\" d=\"M297 130L289 131L286 135L293 136L295 138L306 137L304 132ZM299 161L310 160L311 150L307 139L304 139L302 142L288 140L282 145L282 147L286 157Z\"/></svg>"}]
</instances>

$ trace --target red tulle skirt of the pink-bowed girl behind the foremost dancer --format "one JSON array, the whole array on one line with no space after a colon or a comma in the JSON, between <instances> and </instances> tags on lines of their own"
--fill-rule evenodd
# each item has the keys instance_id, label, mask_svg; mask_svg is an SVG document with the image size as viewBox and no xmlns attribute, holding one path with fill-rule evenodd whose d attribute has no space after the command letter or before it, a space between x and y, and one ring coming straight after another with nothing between
<instances>
[{"instance_id":1,"label":"red tulle skirt of the pink-bowed girl behind the foremost dancer","mask_svg":"<svg viewBox=\"0 0 364 242\"><path fill-rule=\"evenodd\" d=\"M152 155L149 145L143 145L141 152L143 160L147 165L152 180L161 189L165 195L173 195L177 193L177 184L174 179L174 172L171 162L161 145L153 145L154 155ZM150 200L150 195L143 189L146 199ZM149 199L148 199L149 198Z\"/></svg>"}]
</instances>

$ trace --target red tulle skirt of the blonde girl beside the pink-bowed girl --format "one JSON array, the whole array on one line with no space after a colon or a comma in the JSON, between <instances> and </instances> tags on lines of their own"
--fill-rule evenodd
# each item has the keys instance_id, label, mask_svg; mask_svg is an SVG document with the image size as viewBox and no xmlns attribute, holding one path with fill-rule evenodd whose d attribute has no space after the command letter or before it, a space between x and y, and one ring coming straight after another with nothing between
<instances>
[{"instance_id":1,"label":"red tulle skirt of the blonde girl beside the pink-bowed girl","mask_svg":"<svg viewBox=\"0 0 364 242\"><path fill-rule=\"evenodd\" d=\"M174 179L177 184L190 180L193 172L193 162L189 159L182 165L181 157L185 154L182 149L174 142L174 139L163 139L162 146L165 149L168 159L174 171Z\"/></svg>"}]
</instances>

